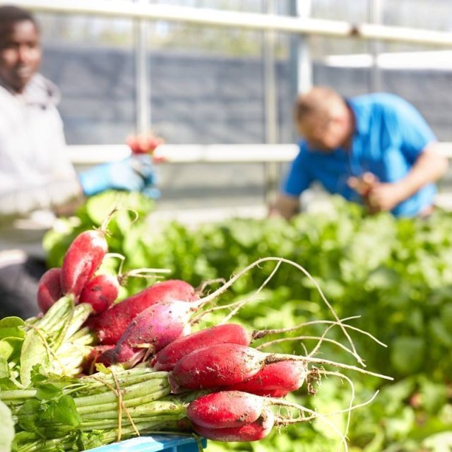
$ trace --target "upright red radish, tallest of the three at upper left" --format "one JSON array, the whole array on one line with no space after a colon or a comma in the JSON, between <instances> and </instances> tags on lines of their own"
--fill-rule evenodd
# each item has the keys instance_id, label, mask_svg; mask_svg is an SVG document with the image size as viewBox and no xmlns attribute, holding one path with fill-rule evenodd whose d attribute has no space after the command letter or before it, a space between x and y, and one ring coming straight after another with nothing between
<instances>
[{"instance_id":1,"label":"upright red radish, tallest of the three at upper left","mask_svg":"<svg viewBox=\"0 0 452 452\"><path fill-rule=\"evenodd\" d=\"M71 294L78 300L83 287L93 278L107 251L103 230L84 231L73 239L61 266L61 287L65 295Z\"/></svg>"}]
</instances>

